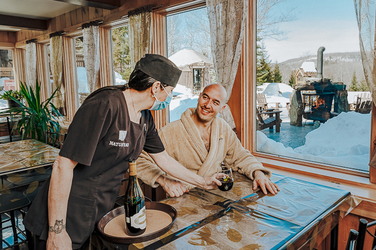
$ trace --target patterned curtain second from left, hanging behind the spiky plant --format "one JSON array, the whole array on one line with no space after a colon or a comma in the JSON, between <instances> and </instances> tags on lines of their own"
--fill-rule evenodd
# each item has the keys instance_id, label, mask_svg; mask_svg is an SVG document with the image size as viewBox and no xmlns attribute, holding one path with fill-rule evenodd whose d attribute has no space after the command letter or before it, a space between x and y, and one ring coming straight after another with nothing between
<instances>
[{"instance_id":1,"label":"patterned curtain second from left, hanging behind the spiky plant","mask_svg":"<svg viewBox=\"0 0 376 250\"><path fill-rule=\"evenodd\" d=\"M57 97L54 98L53 103L60 113L66 114L65 109L65 86L62 84L61 76L63 74L63 39L60 35L50 34L50 64L53 82L55 89L60 86L57 91ZM52 89L54 91L55 89Z\"/></svg>"}]
</instances>

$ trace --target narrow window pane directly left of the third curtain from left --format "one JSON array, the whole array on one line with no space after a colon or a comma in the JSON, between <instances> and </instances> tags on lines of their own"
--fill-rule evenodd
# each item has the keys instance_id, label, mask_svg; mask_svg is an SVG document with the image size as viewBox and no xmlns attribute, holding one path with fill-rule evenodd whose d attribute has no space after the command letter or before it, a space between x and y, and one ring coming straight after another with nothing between
<instances>
[{"instance_id":1,"label":"narrow window pane directly left of the third curtain from left","mask_svg":"<svg viewBox=\"0 0 376 250\"><path fill-rule=\"evenodd\" d=\"M85 62L84 62L84 37L77 37L74 39L76 64L77 64L77 103L80 107L85 99L89 96L90 91L88 87L88 77L86 75Z\"/></svg>"}]
</instances>

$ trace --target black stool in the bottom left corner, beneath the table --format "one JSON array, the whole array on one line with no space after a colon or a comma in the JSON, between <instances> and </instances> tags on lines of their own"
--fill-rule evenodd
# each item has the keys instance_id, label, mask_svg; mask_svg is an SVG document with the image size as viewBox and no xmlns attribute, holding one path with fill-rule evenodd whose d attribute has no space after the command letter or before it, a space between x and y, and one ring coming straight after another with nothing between
<instances>
[{"instance_id":1,"label":"black stool in the bottom left corner, beneath the table","mask_svg":"<svg viewBox=\"0 0 376 250\"><path fill-rule=\"evenodd\" d=\"M7 199L7 194L1 194L1 196L2 197L0 198L0 247L4 243L6 246L5 248L1 248L2 250L10 248L18 250L21 244L24 244L26 242L28 245L31 244L31 233L27 230L22 230L18 227L16 223L15 212L19 211L22 214L22 218L24 219L24 216L26 214L24 208L28 208L30 206L30 200L27 197L22 197L16 201L9 201L9 199ZM11 229L13 234L13 243L5 241L5 239L3 238L3 232L6 229ZM30 247L31 246L29 246L29 249L31 250L32 248Z\"/></svg>"}]
</instances>

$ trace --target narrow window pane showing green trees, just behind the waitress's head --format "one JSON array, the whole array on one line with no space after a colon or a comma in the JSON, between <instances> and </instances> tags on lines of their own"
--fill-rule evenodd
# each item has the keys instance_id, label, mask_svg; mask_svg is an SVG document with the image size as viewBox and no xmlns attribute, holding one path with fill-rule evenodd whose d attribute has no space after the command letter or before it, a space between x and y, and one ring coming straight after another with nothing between
<instances>
[{"instance_id":1,"label":"narrow window pane showing green trees, just behind the waitress's head","mask_svg":"<svg viewBox=\"0 0 376 250\"><path fill-rule=\"evenodd\" d=\"M111 30L115 85L129 81L131 58L129 55L128 25Z\"/></svg>"}]
</instances>

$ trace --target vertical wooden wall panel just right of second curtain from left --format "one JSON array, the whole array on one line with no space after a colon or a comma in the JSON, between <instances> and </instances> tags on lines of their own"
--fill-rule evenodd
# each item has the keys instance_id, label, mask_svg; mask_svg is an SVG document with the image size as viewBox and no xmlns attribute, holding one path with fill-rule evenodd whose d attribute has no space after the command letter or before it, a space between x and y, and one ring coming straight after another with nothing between
<instances>
[{"instance_id":1,"label":"vertical wooden wall panel just right of second curtain from left","mask_svg":"<svg viewBox=\"0 0 376 250\"><path fill-rule=\"evenodd\" d=\"M67 100L67 119L72 121L76 112L76 60L74 55L74 39L63 36L63 74L65 83L66 100Z\"/></svg>"}]
</instances>

